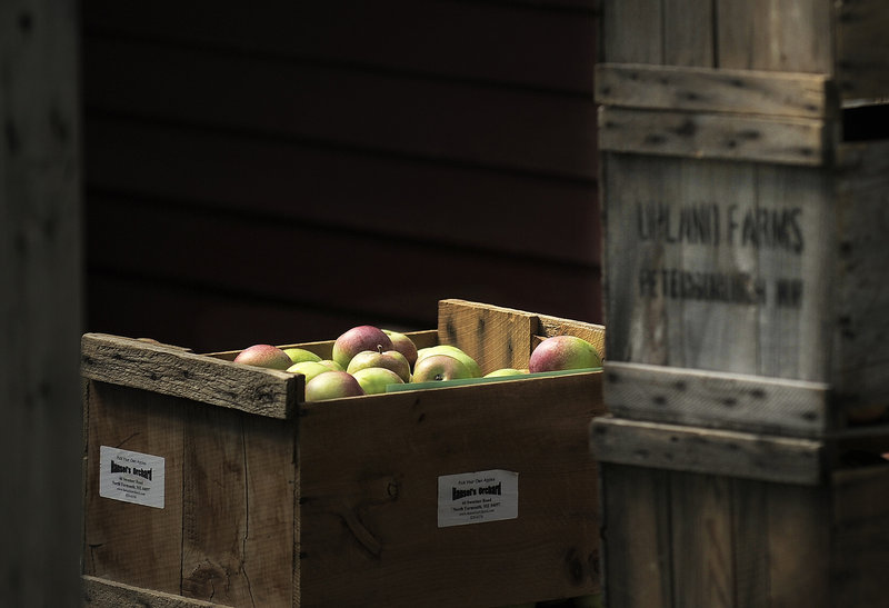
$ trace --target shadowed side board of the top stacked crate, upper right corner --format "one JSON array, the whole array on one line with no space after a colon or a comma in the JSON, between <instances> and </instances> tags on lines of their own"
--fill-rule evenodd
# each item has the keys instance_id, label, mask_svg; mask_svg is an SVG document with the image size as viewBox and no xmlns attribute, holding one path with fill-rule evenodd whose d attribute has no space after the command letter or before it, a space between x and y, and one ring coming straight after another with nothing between
<instances>
[{"instance_id":1,"label":"shadowed side board of the top stacked crate, upper right corner","mask_svg":"<svg viewBox=\"0 0 889 608\"><path fill-rule=\"evenodd\" d=\"M889 7L880 0L837 3L837 72L843 99L886 99Z\"/></svg>"}]
</instances>

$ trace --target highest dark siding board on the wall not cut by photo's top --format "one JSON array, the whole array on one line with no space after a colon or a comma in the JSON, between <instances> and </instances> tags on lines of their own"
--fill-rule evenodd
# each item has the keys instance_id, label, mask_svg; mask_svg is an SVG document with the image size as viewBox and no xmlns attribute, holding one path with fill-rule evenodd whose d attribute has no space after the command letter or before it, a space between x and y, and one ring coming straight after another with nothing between
<instances>
[{"instance_id":1,"label":"highest dark siding board on the wall not cut by photo's top","mask_svg":"<svg viewBox=\"0 0 889 608\"><path fill-rule=\"evenodd\" d=\"M434 162L595 177L595 107L583 96L258 61L138 41L87 39L83 52L88 112ZM179 94L163 93L170 90Z\"/></svg>"}]
</instances>

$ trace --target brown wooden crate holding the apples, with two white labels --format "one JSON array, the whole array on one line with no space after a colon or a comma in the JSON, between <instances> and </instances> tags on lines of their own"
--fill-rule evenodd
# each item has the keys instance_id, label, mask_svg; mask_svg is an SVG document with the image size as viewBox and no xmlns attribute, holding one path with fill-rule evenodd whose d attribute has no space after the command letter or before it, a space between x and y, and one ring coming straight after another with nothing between
<instances>
[{"instance_id":1,"label":"brown wooden crate holding the apples, with two white labels","mask_svg":"<svg viewBox=\"0 0 889 608\"><path fill-rule=\"evenodd\" d=\"M556 333L603 346L601 326L460 300L411 336L490 371L527 366ZM302 346L329 356L332 341ZM83 337L88 604L482 607L598 591L600 372L304 402L302 376L232 355ZM101 496L103 453L101 467L153 465L128 488L153 507ZM476 474L517 490L479 522L440 526L442 478Z\"/></svg>"}]
</instances>

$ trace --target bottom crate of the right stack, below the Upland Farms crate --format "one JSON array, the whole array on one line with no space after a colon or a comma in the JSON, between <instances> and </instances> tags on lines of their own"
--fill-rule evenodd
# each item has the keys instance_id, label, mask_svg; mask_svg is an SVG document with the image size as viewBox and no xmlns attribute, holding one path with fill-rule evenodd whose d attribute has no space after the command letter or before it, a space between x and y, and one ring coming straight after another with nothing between
<instances>
[{"instance_id":1,"label":"bottom crate of the right stack, below the Upland Farms crate","mask_svg":"<svg viewBox=\"0 0 889 608\"><path fill-rule=\"evenodd\" d=\"M610 417L592 442L608 608L886 606L878 451Z\"/></svg>"}]
</instances>

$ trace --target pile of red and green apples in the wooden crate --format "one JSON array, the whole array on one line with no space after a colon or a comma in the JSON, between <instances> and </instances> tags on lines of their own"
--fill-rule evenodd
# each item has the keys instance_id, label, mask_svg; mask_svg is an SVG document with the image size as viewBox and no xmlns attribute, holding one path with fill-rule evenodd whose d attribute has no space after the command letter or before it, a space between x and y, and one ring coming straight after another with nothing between
<instances>
[{"instance_id":1,"label":"pile of red and green apples in the wooden crate","mask_svg":"<svg viewBox=\"0 0 889 608\"><path fill-rule=\"evenodd\" d=\"M303 348L253 345L238 353L234 362L303 375L307 401L376 395L386 392L390 385L511 377L602 365L598 351L587 340L553 336L535 348L528 369L502 368L482 376L476 360L455 346L418 349L406 333L369 325L340 335L330 359L321 359Z\"/></svg>"}]
</instances>

